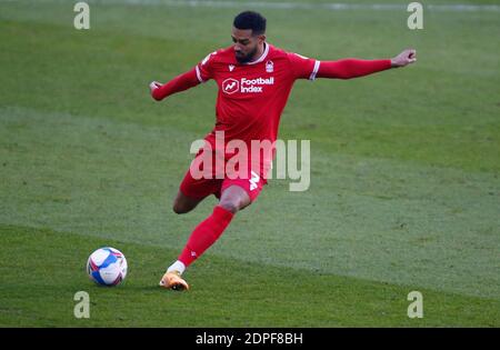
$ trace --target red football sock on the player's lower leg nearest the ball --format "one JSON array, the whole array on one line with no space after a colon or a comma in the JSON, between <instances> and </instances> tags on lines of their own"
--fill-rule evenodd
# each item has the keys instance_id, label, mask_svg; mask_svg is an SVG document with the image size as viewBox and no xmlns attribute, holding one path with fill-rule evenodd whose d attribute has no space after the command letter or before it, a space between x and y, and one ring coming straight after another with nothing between
<instances>
[{"instance_id":1,"label":"red football sock on the player's lower leg nearest the ball","mask_svg":"<svg viewBox=\"0 0 500 350\"><path fill-rule=\"evenodd\" d=\"M210 217L200 222L189 237L188 243L179 256L186 267L197 260L212 246L228 227L234 214L217 206Z\"/></svg>"}]
</instances>

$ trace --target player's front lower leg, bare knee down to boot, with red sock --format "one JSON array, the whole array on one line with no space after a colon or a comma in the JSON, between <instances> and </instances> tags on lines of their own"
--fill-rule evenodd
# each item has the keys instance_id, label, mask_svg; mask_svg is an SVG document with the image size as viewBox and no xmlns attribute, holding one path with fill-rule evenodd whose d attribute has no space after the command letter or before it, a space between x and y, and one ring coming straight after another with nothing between
<instances>
[{"instance_id":1,"label":"player's front lower leg, bare knee down to boot, with red sock","mask_svg":"<svg viewBox=\"0 0 500 350\"><path fill-rule=\"evenodd\" d=\"M183 196L180 191L179 193L180 196L178 196L178 198L181 200L186 198L186 196ZM189 210L192 210L198 202L188 202L188 204L191 204L192 208L184 207L177 209L182 209L180 211L188 212ZM217 239L228 227L234 213L248 207L250 203L251 200L248 193L238 186L230 186L222 191L219 204L213 209L213 213L201 222L191 233L191 237L179 257L179 260L167 269L167 272L160 281L160 286L171 290L188 290L188 282L186 282L181 277L186 268L217 241ZM176 210L176 204L174 211L178 212Z\"/></svg>"}]
</instances>

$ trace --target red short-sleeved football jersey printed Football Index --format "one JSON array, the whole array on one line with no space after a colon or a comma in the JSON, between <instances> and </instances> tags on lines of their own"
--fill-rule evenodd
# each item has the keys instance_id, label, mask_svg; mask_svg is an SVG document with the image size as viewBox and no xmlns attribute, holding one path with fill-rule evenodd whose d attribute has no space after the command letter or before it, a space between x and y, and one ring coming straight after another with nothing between
<instances>
[{"instance_id":1,"label":"red short-sleeved football jersey printed Football Index","mask_svg":"<svg viewBox=\"0 0 500 350\"><path fill-rule=\"evenodd\" d=\"M210 53L196 67L200 82L213 79L219 87L217 122L206 140L214 149L216 131L224 131L226 143L242 140L249 151L252 140L274 142L293 82L313 80L319 66L317 60L269 43L258 60L248 63L237 61L233 47ZM266 154L266 168L271 161L272 154Z\"/></svg>"}]
</instances>

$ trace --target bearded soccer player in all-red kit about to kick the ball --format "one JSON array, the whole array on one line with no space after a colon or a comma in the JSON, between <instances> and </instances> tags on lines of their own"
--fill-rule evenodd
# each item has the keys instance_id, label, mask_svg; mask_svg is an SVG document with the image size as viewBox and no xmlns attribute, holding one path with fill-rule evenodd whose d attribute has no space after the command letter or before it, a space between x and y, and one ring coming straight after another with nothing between
<instances>
[{"instance_id":1,"label":"bearded soccer player in all-red kit about to kick the ball","mask_svg":"<svg viewBox=\"0 0 500 350\"><path fill-rule=\"evenodd\" d=\"M196 227L178 260L167 269L160 281L167 289L189 289L181 277L186 268L217 241L234 214L250 206L266 184L272 150L259 151L257 156L247 150L246 162L232 167L237 176L234 171L231 176L224 169L226 166L229 168L229 156L234 152L224 148L218 152L218 134L223 134L219 146L224 147L231 141L239 141L248 149L252 141L274 142L281 112L297 79L351 79L404 67L417 60L412 49L392 59L380 60L319 61L287 52L266 41L266 19L252 11L234 18L231 38L231 47L210 53L190 71L164 84L153 81L149 86L152 98L158 101L210 79L219 87L216 126L204 138L206 147L200 149L180 184L173 211L187 213L210 194L214 194L219 203ZM209 162L203 162L207 157ZM212 169L212 161L217 164L218 160L222 167ZM203 170L203 176L196 170Z\"/></svg>"}]
</instances>

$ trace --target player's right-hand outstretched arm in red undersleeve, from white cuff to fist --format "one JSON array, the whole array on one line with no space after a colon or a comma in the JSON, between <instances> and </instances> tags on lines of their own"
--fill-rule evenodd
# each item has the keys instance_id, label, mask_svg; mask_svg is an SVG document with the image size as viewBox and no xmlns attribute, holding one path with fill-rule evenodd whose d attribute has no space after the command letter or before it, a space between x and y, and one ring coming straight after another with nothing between
<instances>
[{"instance_id":1,"label":"player's right-hand outstretched arm in red undersleeve, from white cuff to fist","mask_svg":"<svg viewBox=\"0 0 500 350\"><path fill-rule=\"evenodd\" d=\"M372 74L390 68L404 67L417 61L417 51L408 49L392 59L359 60L343 59L339 61L321 61L317 77L351 79Z\"/></svg>"}]
</instances>

